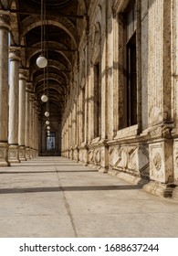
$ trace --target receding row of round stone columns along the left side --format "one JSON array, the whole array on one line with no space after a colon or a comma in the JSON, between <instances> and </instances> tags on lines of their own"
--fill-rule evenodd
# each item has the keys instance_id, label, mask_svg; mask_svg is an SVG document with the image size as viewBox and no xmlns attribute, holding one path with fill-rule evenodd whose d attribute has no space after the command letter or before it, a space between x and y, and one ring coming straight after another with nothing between
<instances>
[{"instance_id":1,"label":"receding row of round stone columns along the left side","mask_svg":"<svg viewBox=\"0 0 178 256\"><path fill-rule=\"evenodd\" d=\"M33 84L20 67L21 49L8 47L9 30L10 14L0 10L0 166L33 158L38 151Z\"/></svg>"}]
</instances>

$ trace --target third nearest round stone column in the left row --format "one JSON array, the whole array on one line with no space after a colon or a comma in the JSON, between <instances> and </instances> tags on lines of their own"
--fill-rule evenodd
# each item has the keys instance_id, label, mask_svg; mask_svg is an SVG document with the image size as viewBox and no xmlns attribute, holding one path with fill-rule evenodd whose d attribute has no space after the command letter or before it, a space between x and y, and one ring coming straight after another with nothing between
<instances>
[{"instance_id":1,"label":"third nearest round stone column in the left row","mask_svg":"<svg viewBox=\"0 0 178 256\"><path fill-rule=\"evenodd\" d=\"M26 70L19 73L19 118L18 118L18 145L19 159L26 161Z\"/></svg>"}]
</instances>

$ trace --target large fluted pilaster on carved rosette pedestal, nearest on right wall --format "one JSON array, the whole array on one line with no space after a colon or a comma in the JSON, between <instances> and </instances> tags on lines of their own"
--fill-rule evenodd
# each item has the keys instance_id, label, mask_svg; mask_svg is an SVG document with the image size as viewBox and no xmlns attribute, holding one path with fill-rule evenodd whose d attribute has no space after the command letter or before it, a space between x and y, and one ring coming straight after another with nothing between
<instances>
[{"instance_id":1,"label":"large fluted pilaster on carved rosette pedestal, nearest on right wall","mask_svg":"<svg viewBox=\"0 0 178 256\"><path fill-rule=\"evenodd\" d=\"M149 6L148 123L152 181L144 189L163 197L171 197L173 192L170 15L170 1L155 0Z\"/></svg>"}]
</instances>

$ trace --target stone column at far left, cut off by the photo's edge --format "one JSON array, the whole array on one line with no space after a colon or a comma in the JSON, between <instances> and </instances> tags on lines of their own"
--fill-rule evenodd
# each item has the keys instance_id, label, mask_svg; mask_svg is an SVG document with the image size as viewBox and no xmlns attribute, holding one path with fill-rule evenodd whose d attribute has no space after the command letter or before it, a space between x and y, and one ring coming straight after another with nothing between
<instances>
[{"instance_id":1,"label":"stone column at far left, cut off by the photo's edge","mask_svg":"<svg viewBox=\"0 0 178 256\"><path fill-rule=\"evenodd\" d=\"M0 166L8 166L8 32L9 13L0 10Z\"/></svg>"}]
</instances>

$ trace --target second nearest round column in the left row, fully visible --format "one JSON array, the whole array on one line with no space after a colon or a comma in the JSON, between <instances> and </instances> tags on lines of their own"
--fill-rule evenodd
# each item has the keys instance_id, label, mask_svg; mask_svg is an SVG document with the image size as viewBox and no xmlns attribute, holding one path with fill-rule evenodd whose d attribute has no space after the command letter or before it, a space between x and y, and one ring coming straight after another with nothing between
<instances>
[{"instance_id":1,"label":"second nearest round column in the left row, fully visible","mask_svg":"<svg viewBox=\"0 0 178 256\"><path fill-rule=\"evenodd\" d=\"M8 160L19 163L18 149L18 83L20 48L10 48L10 89L9 89L9 123L8 123Z\"/></svg>"}]
</instances>

